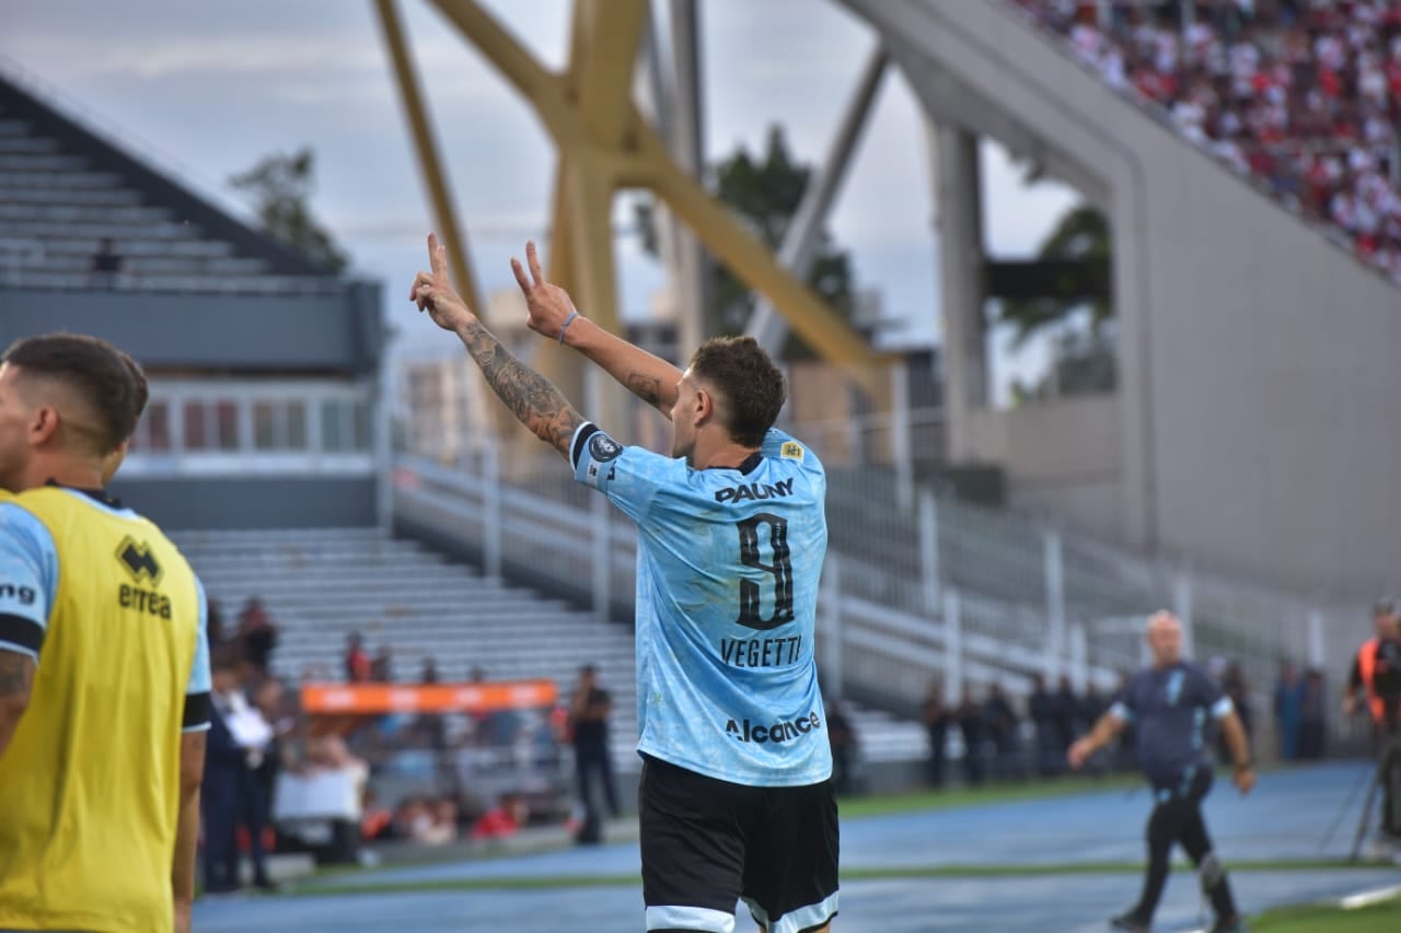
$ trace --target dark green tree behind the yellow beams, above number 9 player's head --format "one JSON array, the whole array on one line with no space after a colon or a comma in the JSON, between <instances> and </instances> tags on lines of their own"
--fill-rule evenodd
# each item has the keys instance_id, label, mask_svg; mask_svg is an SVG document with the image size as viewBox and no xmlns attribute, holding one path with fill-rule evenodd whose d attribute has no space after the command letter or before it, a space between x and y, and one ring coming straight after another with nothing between
<instances>
[{"instance_id":1,"label":"dark green tree behind the yellow beams, above number 9 player's head","mask_svg":"<svg viewBox=\"0 0 1401 933\"><path fill-rule=\"evenodd\" d=\"M733 156L713 165L708 175L710 193L729 205L750 233L776 251L793 221L793 214L797 213L813 170L793 158L783 127L773 125L769 127L766 150L761 156L751 156L744 146L740 146ZM657 255L651 202L644 199L636 202L636 214L643 249ZM712 276L710 294L715 307L708 310L709 318L719 333L743 332L758 297L720 263L712 265ZM836 247L825 230L820 234L807 284L839 315L850 318L850 254ZM810 359L813 352L801 339L790 336L783 356L790 360Z\"/></svg>"}]
</instances>

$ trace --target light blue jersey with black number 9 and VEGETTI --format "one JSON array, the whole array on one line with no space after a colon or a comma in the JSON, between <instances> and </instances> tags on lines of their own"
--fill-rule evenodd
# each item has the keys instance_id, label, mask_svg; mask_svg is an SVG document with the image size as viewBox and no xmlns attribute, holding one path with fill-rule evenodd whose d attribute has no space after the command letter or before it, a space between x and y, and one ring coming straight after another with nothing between
<instances>
[{"instance_id":1,"label":"light blue jersey with black number 9 and VEGETTI","mask_svg":"<svg viewBox=\"0 0 1401 933\"><path fill-rule=\"evenodd\" d=\"M574 478L637 525L637 751L738 785L832 773L813 646L827 475L769 430L738 468L692 469L584 424Z\"/></svg>"}]
</instances>

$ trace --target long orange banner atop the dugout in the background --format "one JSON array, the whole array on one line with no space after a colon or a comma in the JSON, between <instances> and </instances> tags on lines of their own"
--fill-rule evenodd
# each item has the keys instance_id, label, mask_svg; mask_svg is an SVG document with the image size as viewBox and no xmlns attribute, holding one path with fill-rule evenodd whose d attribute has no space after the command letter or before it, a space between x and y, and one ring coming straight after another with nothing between
<instances>
[{"instance_id":1,"label":"long orange banner atop the dugout in the background","mask_svg":"<svg viewBox=\"0 0 1401 933\"><path fill-rule=\"evenodd\" d=\"M553 706L556 699L559 689L555 681L301 685L301 709L314 716L489 713Z\"/></svg>"}]
</instances>

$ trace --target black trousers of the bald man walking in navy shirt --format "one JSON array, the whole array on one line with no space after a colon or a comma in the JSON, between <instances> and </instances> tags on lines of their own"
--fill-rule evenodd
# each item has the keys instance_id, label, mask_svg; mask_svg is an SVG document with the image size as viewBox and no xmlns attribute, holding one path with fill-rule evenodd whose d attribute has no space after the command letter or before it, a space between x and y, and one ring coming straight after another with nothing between
<instances>
[{"instance_id":1,"label":"black trousers of the bald man walking in navy shirt","mask_svg":"<svg viewBox=\"0 0 1401 933\"><path fill-rule=\"evenodd\" d=\"M1206 766L1192 768L1180 778L1153 782L1154 806L1146 831L1147 873L1143 877L1143 892L1133 911L1145 923L1153 919L1153 912L1163 898L1173 845L1181 843L1187 857L1198 869L1202 869L1206 857L1212 855L1212 839L1202 818L1202 800L1210 789L1212 770ZM1236 902L1224 873L1219 873L1219 878L1203 878L1203 887L1212 898L1217 916L1236 915Z\"/></svg>"}]
</instances>

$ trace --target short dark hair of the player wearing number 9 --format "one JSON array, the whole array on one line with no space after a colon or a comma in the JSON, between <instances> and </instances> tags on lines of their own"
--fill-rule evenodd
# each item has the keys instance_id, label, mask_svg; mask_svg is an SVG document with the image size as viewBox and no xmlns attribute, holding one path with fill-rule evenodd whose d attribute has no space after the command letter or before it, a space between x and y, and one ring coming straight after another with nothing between
<instances>
[{"instance_id":1,"label":"short dark hair of the player wearing number 9","mask_svg":"<svg viewBox=\"0 0 1401 933\"><path fill-rule=\"evenodd\" d=\"M758 447L778 420L787 385L779 367L751 336L712 338L691 357L691 373L724 396L730 438Z\"/></svg>"}]
</instances>

